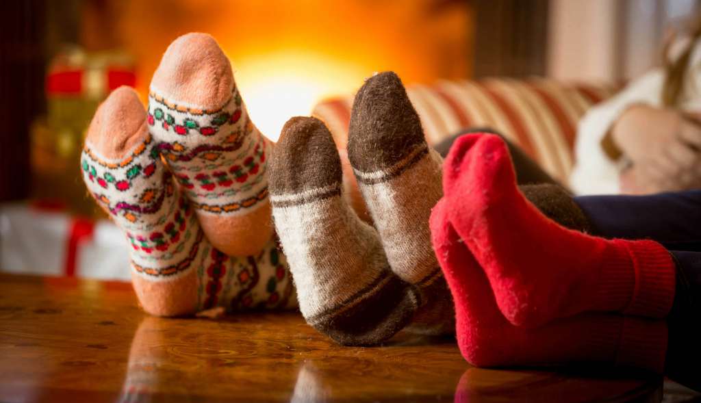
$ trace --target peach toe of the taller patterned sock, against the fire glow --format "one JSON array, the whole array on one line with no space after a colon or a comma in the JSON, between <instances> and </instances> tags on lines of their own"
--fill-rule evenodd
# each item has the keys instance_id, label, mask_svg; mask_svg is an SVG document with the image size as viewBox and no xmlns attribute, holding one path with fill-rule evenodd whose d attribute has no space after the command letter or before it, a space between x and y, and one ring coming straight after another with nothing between
<instances>
[{"instance_id":1,"label":"peach toe of the taller patterned sock, against the fire glow","mask_svg":"<svg viewBox=\"0 0 701 403\"><path fill-rule=\"evenodd\" d=\"M151 80L151 91L171 102L215 109L231 98L231 63L212 36L190 33L175 39Z\"/></svg>"}]
</instances>

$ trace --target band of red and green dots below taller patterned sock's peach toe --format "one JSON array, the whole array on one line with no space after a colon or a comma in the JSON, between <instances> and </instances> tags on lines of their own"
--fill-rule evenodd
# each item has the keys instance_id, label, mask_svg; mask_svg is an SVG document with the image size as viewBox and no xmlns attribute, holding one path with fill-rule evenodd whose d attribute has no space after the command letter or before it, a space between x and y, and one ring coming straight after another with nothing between
<instances>
[{"instance_id":1,"label":"band of red and green dots below taller patterned sock's peach toe","mask_svg":"<svg viewBox=\"0 0 701 403\"><path fill-rule=\"evenodd\" d=\"M192 118L185 118L183 121L176 122L175 117L168 113L168 108L155 107L153 111L151 111L151 105L149 105L147 121L151 126L155 125L156 122L160 122L163 130L172 129L173 132L181 136L189 135L191 131L198 132L203 136L212 136L215 135L217 131L219 131L219 128L225 123L233 125L241 118L241 97L238 95L238 92L234 99L236 102L236 110L231 114L229 112L219 112L210 121L210 125L202 125Z\"/></svg>"}]
</instances>

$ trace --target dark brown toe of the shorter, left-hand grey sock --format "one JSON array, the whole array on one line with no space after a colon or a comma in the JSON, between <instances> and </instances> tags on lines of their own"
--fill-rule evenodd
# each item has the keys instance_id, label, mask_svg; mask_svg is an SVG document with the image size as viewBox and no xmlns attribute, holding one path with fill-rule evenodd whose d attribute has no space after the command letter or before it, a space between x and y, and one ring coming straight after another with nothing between
<instances>
[{"instance_id":1,"label":"dark brown toe of the shorter, left-hand grey sock","mask_svg":"<svg viewBox=\"0 0 701 403\"><path fill-rule=\"evenodd\" d=\"M268 168L273 195L334 184L340 189L343 175L331 132L319 119L308 117L294 117L285 123Z\"/></svg>"}]
</instances>

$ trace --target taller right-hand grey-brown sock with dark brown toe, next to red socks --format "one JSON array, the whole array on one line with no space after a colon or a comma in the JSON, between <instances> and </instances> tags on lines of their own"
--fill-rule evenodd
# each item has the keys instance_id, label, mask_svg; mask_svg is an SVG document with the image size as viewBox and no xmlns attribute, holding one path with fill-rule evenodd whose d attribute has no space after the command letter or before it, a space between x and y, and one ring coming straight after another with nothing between
<instances>
[{"instance_id":1,"label":"taller right-hand grey-brown sock with dark brown toe, next to red socks","mask_svg":"<svg viewBox=\"0 0 701 403\"><path fill-rule=\"evenodd\" d=\"M394 273L422 293L414 330L453 332L454 312L430 247L428 218L442 196L442 158L393 72L368 78L353 102L348 158Z\"/></svg>"}]
</instances>

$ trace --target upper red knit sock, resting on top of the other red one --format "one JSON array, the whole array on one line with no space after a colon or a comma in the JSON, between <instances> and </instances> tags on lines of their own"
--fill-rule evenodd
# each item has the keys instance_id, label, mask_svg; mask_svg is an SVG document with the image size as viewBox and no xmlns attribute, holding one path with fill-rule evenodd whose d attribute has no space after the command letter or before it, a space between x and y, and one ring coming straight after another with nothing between
<instances>
[{"instance_id":1,"label":"upper red knit sock, resting on top of the other red one","mask_svg":"<svg viewBox=\"0 0 701 403\"><path fill-rule=\"evenodd\" d=\"M461 137L443 166L450 220L512 324L536 327L590 310L669 312L674 262L667 250L651 240L595 238L545 217L517 188L499 137Z\"/></svg>"}]
</instances>

